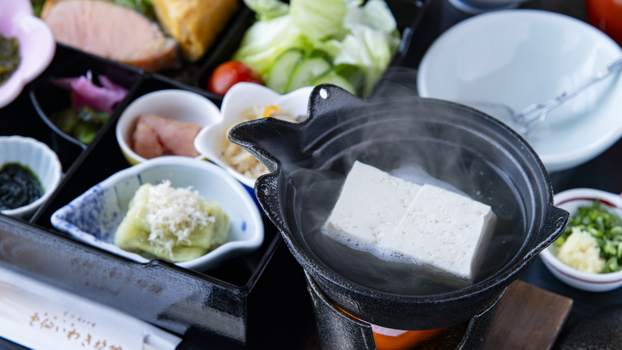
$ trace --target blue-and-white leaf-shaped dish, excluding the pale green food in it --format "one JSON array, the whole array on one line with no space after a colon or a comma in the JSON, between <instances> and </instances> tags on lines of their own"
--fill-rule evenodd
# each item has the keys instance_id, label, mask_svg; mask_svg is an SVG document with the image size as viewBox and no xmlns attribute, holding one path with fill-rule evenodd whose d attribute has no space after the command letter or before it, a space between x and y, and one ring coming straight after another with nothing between
<instances>
[{"instance_id":1,"label":"blue-and-white leaf-shaped dish, excluding the pale green food in it","mask_svg":"<svg viewBox=\"0 0 622 350\"><path fill-rule=\"evenodd\" d=\"M176 188L192 186L205 199L217 200L231 221L228 242L202 257L175 265L207 270L227 258L259 248L264 240L264 225L246 189L218 166L182 156L149 159L119 171L54 212L52 225L95 247L147 263L149 260L141 255L114 245L114 234L138 187L164 180L170 180Z\"/></svg>"}]
</instances>

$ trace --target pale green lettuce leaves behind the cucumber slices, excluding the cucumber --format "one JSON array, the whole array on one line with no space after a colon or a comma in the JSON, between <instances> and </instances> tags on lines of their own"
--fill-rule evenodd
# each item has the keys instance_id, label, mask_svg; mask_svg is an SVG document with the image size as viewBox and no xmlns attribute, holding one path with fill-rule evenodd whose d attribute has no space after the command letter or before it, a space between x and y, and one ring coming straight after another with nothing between
<instances>
[{"instance_id":1,"label":"pale green lettuce leaves behind the cucumber slices, excluding the cucumber","mask_svg":"<svg viewBox=\"0 0 622 350\"><path fill-rule=\"evenodd\" d=\"M352 64L365 75L364 95L382 75L401 37L384 0L244 0L258 13L234 60L241 60L267 79L279 55L295 47L327 52L335 65ZM289 9L289 13L287 12Z\"/></svg>"}]
</instances>

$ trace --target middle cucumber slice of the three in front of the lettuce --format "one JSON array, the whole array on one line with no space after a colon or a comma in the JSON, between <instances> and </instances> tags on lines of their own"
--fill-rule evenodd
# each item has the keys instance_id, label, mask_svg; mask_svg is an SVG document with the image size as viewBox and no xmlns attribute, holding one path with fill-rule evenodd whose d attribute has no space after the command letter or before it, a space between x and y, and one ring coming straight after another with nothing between
<instances>
[{"instance_id":1,"label":"middle cucumber slice of the three in front of the lettuce","mask_svg":"<svg viewBox=\"0 0 622 350\"><path fill-rule=\"evenodd\" d=\"M292 76L289 78L285 93L297 88L312 85L313 80L321 77L332 68L330 59L322 50L309 50L295 65Z\"/></svg>"}]
</instances>

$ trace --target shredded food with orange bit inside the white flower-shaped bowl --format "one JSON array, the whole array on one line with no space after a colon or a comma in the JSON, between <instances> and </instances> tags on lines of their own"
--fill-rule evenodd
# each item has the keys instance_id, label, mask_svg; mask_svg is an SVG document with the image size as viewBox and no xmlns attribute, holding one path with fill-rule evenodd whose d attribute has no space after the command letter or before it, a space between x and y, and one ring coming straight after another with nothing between
<instances>
[{"instance_id":1,"label":"shredded food with orange bit inside the white flower-shaped bowl","mask_svg":"<svg viewBox=\"0 0 622 350\"><path fill-rule=\"evenodd\" d=\"M266 118L268 116L292 122L299 121L294 115L292 115L292 113L289 113L289 111L281 110L279 106L267 106L251 107L242 111L243 120L239 123ZM263 174L269 173L269 171L266 169L265 166L263 166L263 164L259 163L259 161L254 158L252 154L248 153L237 144L229 141L228 138L229 131L231 131L233 126L236 126L239 123L235 123L229 126L229 128L225 131L225 137L223 138L222 158L227 164L231 166L231 168L235 169L235 171L237 171L238 173L256 179Z\"/></svg>"}]
</instances>

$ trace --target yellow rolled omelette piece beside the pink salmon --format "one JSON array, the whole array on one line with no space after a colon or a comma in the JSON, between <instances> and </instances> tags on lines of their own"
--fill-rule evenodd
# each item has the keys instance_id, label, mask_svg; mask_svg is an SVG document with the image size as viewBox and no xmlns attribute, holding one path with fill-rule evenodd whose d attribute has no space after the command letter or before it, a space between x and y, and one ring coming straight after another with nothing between
<instances>
[{"instance_id":1,"label":"yellow rolled omelette piece beside the pink salmon","mask_svg":"<svg viewBox=\"0 0 622 350\"><path fill-rule=\"evenodd\" d=\"M152 0L160 25L174 37L183 57L200 59L233 13L236 0Z\"/></svg>"}]
</instances>

